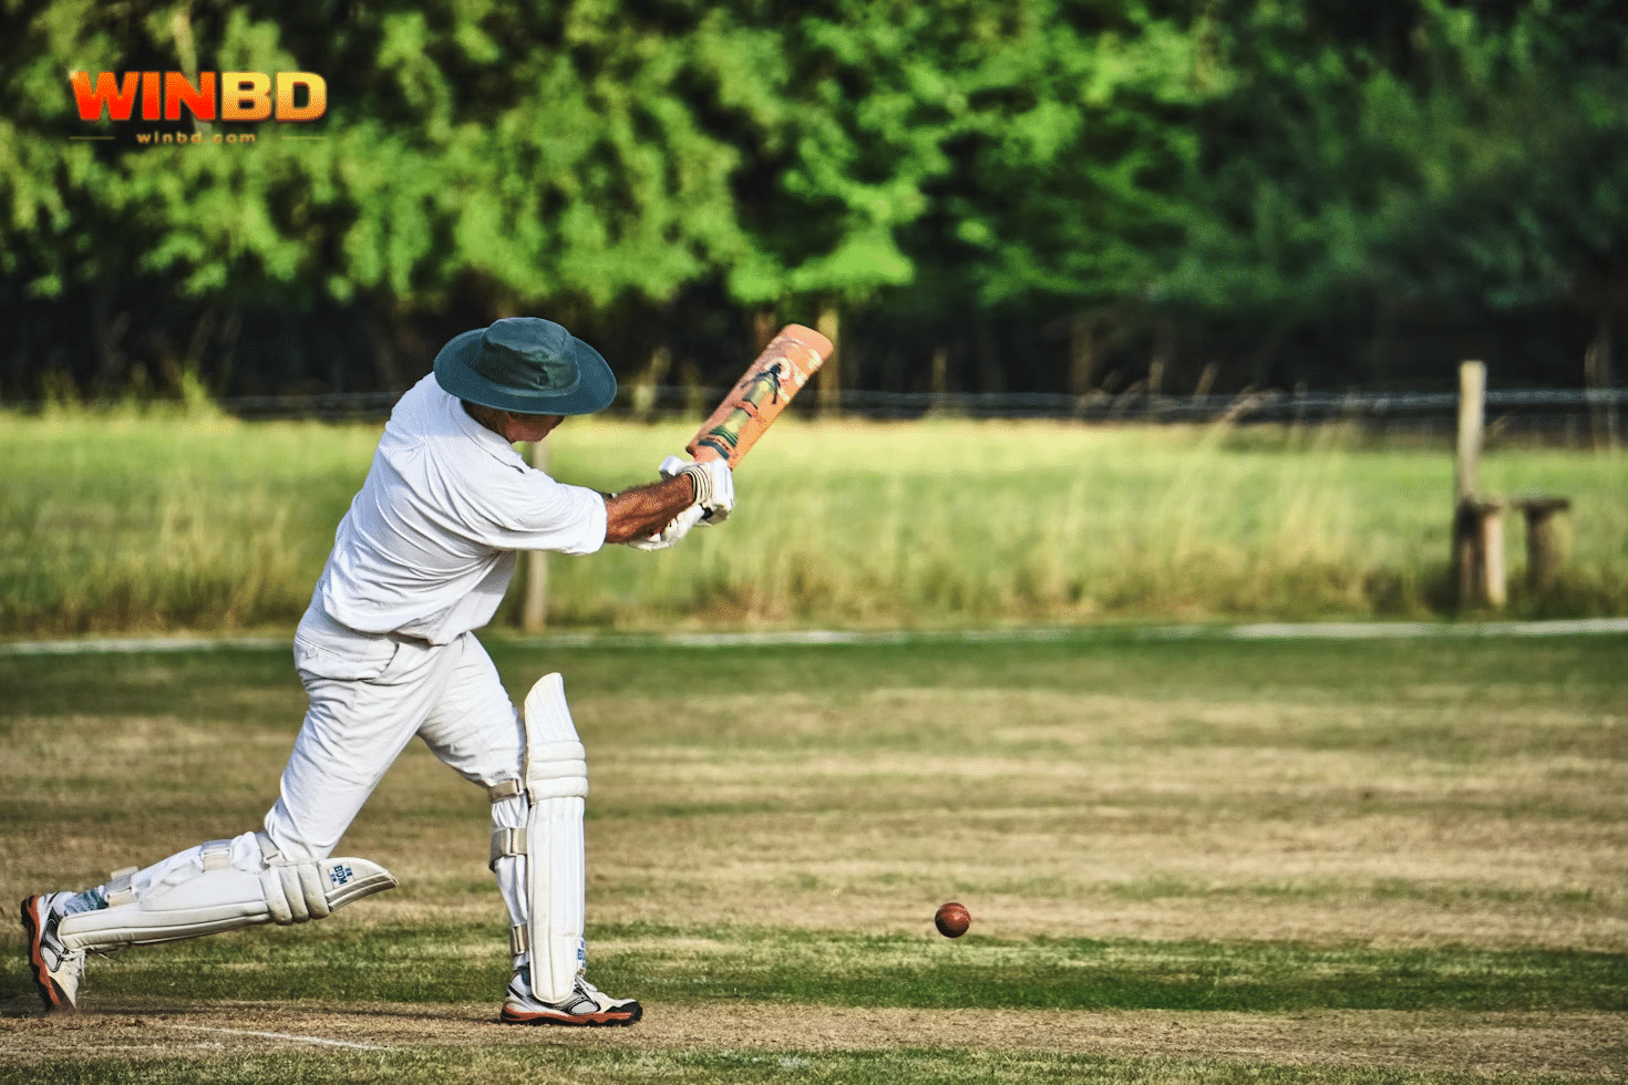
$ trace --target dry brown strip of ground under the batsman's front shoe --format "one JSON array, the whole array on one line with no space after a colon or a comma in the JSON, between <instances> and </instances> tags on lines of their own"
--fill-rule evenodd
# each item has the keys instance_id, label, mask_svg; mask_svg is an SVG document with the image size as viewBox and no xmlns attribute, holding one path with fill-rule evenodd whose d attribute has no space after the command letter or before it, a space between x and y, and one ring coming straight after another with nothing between
<instances>
[{"instance_id":1,"label":"dry brown strip of ground under the batsman's front shoe","mask_svg":"<svg viewBox=\"0 0 1628 1085\"><path fill-rule=\"evenodd\" d=\"M0 1067L366 1049L684 1052L939 1049L1086 1054L1115 1059L1452 1070L1477 1077L1625 1080L1628 1043L1612 1013L1185 1013L1037 1010L861 1010L703 1004L661 1007L614 1031L516 1030L495 1007L181 1007L127 1000L77 1018L0 1020ZM327 1043L322 1043L327 1041ZM545 1062L531 1080L555 1078Z\"/></svg>"}]
</instances>

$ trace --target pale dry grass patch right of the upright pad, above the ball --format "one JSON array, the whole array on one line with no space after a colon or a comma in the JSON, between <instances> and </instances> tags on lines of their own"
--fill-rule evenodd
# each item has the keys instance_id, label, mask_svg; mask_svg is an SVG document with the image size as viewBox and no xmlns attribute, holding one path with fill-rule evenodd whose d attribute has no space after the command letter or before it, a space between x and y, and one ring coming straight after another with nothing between
<instances>
[{"instance_id":1,"label":"pale dry grass patch right of the upright pad, above the ball","mask_svg":"<svg viewBox=\"0 0 1628 1085\"><path fill-rule=\"evenodd\" d=\"M1581 753L1623 729L1581 709L887 688L578 717L622 737L589 740L614 922L897 932L956 896L1009 937L1628 947L1628 760Z\"/></svg>"}]
</instances>

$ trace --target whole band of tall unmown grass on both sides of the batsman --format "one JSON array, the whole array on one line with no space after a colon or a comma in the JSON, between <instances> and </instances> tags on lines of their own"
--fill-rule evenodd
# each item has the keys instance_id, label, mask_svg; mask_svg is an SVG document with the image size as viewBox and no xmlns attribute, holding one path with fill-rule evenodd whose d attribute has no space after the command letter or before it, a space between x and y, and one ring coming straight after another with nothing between
<instances>
[{"instance_id":1,"label":"whole band of tall unmown grass on both sides of the batsman","mask_svg":"<svg viewBox=\"0 0 1628 1085\"><path fill-rule=\"evenodd\" d=\"M653 477L692 421L573 420L554 472ZM0 415L0 636L288 628L366 473L376 426ZM1571 498L1569 561L1511 613L1628 613L1628 464L1495 447L1490 493ZM946 626L1439 615L1452 454L1340 426L1101 428L788 418L723 530L659 555L550 558L560 628ZM518 592L511 595L518 599ZM513 608L508 617L513 617Z\"/></svg>"}]
</instances>

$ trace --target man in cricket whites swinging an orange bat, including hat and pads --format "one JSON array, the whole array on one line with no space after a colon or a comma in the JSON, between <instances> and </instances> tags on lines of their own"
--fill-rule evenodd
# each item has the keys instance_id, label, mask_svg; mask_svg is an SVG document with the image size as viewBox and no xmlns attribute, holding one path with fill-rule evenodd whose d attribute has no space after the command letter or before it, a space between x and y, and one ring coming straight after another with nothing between
<instances>
[{"instance_id":1,"label":"man in cricket whites swinging an orange bat, including hat and pads","mask_svg":"<svg viewBox=\"0 0 1628 1085\"><path fill-rule=\"evenodd\" d=\"M817 333L794 335L754 368L775 364L780 350L811 371L830 353ZM798 387L767 412L754 405L733 455L692 444L695 459L667 457L658 481L604 495L555 481L513 449L612 402L615 376L593 346L536 317L446 343L391 413L295 633L308 709L262 828L85 891L26 898L29 966L47 1012L78 1005L90 952L308 922L396 887L374 862L330 856L417 735L492 804L490 867L514 966L501 1020L637 1022L638 1002L584 974L588 765L563 680L545 675L516 711L474 630L497 612L519 550L659 550L695 524L721 522L734 508L734 462ZM720 412L734 410L731 399Z\"/></svg>"}]
</instances>

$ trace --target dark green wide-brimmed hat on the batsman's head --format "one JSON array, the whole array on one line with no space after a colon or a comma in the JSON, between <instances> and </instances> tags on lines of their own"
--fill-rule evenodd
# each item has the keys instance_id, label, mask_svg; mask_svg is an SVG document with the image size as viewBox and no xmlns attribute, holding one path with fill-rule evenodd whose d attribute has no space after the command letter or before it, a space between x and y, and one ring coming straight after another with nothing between
<instances>
[{"instance_id":1,"label":"dark green wide-brimmed hat on the batsman's head","mask_svg":"<svg viewBox=\"0 0 1628 1085\"><path fill-rule=\"evenodd\" d=\"M435 356L435 381L461 400L521 415L591 415L615 399L599 351L540 317L454 337Z\"/></svg>"}]
</instances>

